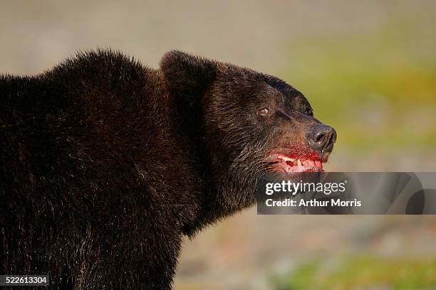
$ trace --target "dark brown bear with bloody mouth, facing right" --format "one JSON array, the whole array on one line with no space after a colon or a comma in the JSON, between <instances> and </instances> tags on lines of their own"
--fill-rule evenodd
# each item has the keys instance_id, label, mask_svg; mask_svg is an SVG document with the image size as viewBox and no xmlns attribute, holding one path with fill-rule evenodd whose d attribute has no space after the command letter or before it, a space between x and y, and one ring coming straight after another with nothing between
<instances>
[{"instance_id":1,"label":"dark brown bear with bloody mouth, facing right","mask_svg":"<svg viewBox=\"0 0 436 290\"><path fill-rule=\"evenodd\" d=\"M112 50L0 76L0 274L170 289L182 236L253 205L256 174L322 171L336 132L271 75Z\"/></svg>"}]
</instances>

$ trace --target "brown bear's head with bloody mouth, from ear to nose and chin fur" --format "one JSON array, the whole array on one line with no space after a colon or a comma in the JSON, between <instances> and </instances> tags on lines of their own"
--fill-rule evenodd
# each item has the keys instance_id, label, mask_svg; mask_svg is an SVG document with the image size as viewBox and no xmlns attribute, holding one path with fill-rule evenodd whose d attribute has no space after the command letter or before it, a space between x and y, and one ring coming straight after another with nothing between
<instances>
[{"instance_id":1,"label":"brown bear's head with bloody mouth, from ear to nose and chin fur","mask_svg":"<svg viewBox=\"0 0 436 290\"><path fill-rule=\"evenodd\" d=\"M202 171L232 212L254 203L256 176L323 171L336 131L313 117L306 97L271 75L171 51L160 63L177 98L180 127Z\"/></svg>"}]
</instances>

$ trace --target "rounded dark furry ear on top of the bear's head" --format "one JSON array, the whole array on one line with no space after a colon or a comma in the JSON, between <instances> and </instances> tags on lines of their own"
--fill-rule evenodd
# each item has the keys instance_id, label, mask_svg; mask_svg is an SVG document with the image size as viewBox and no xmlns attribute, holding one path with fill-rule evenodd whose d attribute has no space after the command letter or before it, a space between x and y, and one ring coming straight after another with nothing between
<instances>
[{"instance_id":1,"label":"rounded dark furry ear on top of the bear's head","mask_svg":"<svg viewBox=\"0 0 436 290\"><path fill-rule=\"evenodd\" d=\"M160 68L170 90L179 95L201 95L217 76L217 63L172 50L160 60Z\"/></svg>"}]
</instances>

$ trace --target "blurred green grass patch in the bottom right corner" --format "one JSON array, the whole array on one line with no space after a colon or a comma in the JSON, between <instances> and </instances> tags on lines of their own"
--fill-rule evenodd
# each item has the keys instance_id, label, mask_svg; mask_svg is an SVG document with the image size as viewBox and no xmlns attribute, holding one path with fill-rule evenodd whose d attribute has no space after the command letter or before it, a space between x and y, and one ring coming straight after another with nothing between
<instances>
[{"instance_id":1,"label":"blurred green grass patch in the bottom right corner","mask_svg":"<svg viewBox=\"0 0 436 290\"><path fill-rule=\"evenodd\" d=\"M348 257L301 264L274 289L436 289L436 259ZM376 288L378 287L378 288Z\"/></svg>"}]
</instances>

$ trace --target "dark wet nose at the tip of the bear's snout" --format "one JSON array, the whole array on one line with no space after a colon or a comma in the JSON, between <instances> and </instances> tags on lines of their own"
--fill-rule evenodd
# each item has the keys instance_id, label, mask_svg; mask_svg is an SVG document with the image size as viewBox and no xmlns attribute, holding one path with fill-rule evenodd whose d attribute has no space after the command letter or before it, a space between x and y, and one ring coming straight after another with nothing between
<instances>
[{"instance_id":1,"label":"dark wet nose at the tip of the bear's snout","mask_svg":"<svg viewBox=\"0 0 436 290\"><path fill-rule=\"evenodd\" d=\"M333 143L336 142L336 131L330 126L316 124L306 138L311 149L329 153L333 150Z\"/></svg>"}]
</instances>

